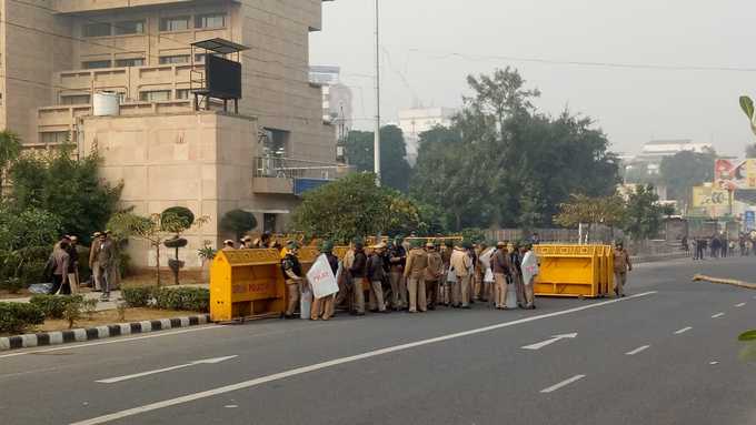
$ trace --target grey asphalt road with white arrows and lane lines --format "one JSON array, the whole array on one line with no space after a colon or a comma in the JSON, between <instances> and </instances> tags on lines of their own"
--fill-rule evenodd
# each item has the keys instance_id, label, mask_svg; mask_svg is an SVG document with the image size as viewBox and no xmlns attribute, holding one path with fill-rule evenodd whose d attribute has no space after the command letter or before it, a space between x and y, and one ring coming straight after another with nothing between
<instances>
[{"instance_id":1,"label":"grey asphalt road with white arrows and lane lines","mask_svg":"<svg viewBox=\"0 0 756 425\"><path fill-rule=\"evenodd\" d=\"M754 424L756 363L736 338L756 328L756 291L695 273L756 281L756 259L645 264L631 296L539 298L536 311L476 304L12 352L0 355L0 423Z\"/></svg>"}]
</instances>

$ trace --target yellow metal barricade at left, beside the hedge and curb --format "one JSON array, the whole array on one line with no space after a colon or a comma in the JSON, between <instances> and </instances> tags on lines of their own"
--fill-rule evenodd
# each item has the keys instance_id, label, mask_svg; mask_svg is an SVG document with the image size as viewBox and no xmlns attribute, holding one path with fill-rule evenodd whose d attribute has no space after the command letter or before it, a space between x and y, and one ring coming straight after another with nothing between
<instances>
[{"instance_id":1,"label":"yellow metal barricade at left, beside the hedge and curb","mask_svg":"<svg viewBox=\"0 0 756 425\"><path fill-rule=\"evenodd\" d=\"M218 251L210 271L210 318L278 316L286 290L278 250Z\"/></svg>"}]
</instances>

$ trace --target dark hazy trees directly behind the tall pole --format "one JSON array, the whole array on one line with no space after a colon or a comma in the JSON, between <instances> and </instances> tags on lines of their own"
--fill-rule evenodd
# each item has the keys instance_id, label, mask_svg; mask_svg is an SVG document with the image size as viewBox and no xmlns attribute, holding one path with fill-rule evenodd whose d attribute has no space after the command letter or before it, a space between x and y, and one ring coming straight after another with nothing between
<instances>
[{"instance_id":1,"label":"dark hazy trees directly behind the tall pole","mask_svg":"<svg viewBox=\"0 0 756 425\"><path fill-rule=\"evenodd\" d=\"M350 131L345 142L345 154L349 165L359 172L372 172L374 132ZM380 179L381 183L407 192L411 168L407 162L407 145L401 129L386 125L380 129Z\"/></svg>"}]
</instances>

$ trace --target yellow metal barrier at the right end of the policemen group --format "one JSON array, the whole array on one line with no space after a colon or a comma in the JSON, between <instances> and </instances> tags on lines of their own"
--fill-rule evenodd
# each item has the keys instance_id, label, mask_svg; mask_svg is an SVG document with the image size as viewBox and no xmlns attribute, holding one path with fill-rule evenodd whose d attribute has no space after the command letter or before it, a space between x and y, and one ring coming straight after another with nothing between
<instances>
[{"instance_id":1,"label":"yellow metal barrier at the right end of the policemen group","mask_svg":"<svg viewBox=\"0 0 756 425\"><path fill-rule=\"evenodd\" d=\"M539 296L600 297L614 290L613 252L607 245L536 245Z\"/></svg>"}]
</instances>

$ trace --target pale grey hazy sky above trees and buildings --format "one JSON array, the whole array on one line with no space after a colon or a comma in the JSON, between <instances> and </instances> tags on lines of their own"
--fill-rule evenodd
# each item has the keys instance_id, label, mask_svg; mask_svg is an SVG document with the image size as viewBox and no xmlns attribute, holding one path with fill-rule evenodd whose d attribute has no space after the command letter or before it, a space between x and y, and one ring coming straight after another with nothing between
<instances>
[{"instance_id":1,"label":"pale grey hazy sky above trees and buildings","mask_svg":"<svg viewBox=\"0 0 756 425\"><path fill-rule=\"evenodd\" d=\"M756 95L754 1L379 1L387 122L416 102L459 107L467 74L510 64L541 90L541 111L568 107L594 118L615 151L637 152L650 139L693 139L743 155L755 140L738 107L740 94ZM366 78L375 67L374 12L374 0L324 2L324 29L310 37L310 62L340 65L352 87L358 128L370 128L375 115L374 82Z\"/></svg>"}]
</instances>

